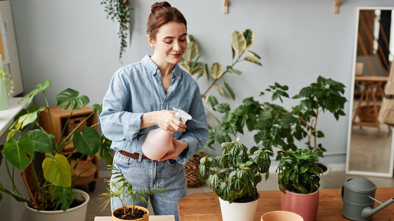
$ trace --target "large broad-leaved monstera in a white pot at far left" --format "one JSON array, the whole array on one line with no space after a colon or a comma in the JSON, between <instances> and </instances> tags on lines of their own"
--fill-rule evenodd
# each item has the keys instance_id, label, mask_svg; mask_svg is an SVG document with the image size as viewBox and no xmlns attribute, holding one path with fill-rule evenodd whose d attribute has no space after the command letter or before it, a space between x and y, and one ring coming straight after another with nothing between
<instances>
[{"instance_id":1,"label":"large broad-leaved monstera in a white pot at far left","mask_svg":"<svg viewBox=\"0 0 394 221\"><path fill-rule=\"evenodd\" d=\"M93 105L93 112L90 115L75 125L68 134L65 134L65 127L67 127L72 113L89 102L87 96L79 95L78 91L70 88L62 91L57 96L57 106L70 110L70 115L66 118L67 121L61 130L62 138L57 141L53 135L54 126L51 118L45 122L38 121L43 111L48 111L48 114L51 115L51 108L45 96L45 90L50 85L51 81L49 80L46 80L43 84L37 84L35 89L19 101L19 103L27 102L30 106L27 109L22 109L16 116L15 121L9 128L6 143L0 145L0 150L4 154L4 158L0 157L0 162L4 159L10 177L8 181L3 180L2 183L10 182L12 186L12 189L6 189L0 183L0 200L2 199L2 193L6 193L17 201L25 202L31 211L53 214L53 210L59 210L60 215L65 215L71 212L64 213L64 211L75 206L75 204L78 205L77 203L82 203L74 198L76 196L75 192L80 191L73 191L74 181L84 172L74 173L78 163L96 154L110 161L111 149L109 148L110 141L103 135L100 136L94 129L98 123L96 125L84 124L88 119L96 117L95 113L101 112L101 105L98 104ZM41 93L46 105L37 108L37 105L33 104L32 100ZM42 123L50 124L52 131L49 133L45 131ZM75 148L69 151L67 155L64 155L63 150L71 142ZM0 154L0 156L3 155ZM71 163L72 159L74 160L73 163ZM41 166L37 167L36 165L38 164ZM28 196L23 196L15 185L17 178L14 176L15 169L21 175ZM88 195L84 193L82 198L88 200ZM87 202L85 202L84 206L86 211ZM75 209L72 208L70 210L74 211ZM32 220L40 220L42 218L36 215L30 216ZM78 218L84 220L85 215L82 217L79 215ZM42 220L44 219L59 220L48 217ZM71 219L76 220L76 217L69 220Z\"/></svg>"}]
</instances>

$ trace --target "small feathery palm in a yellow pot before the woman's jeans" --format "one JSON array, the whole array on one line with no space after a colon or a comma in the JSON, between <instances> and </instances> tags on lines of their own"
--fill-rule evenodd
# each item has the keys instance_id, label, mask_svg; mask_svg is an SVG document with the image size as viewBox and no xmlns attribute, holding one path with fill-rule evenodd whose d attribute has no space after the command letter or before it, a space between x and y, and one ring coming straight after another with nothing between
<instances>
[{"instance_id":1,"label":"small feathery palm in a yellow pot before the woman's jeans","mask_svg":"<svg viewBox=\"0 0 394 221\"><path fill-rule=\"evenodd\" d=\"M123 173L116 167L108 165L115 180L105 180L112 188L107 188L108 192L100 194L100 196L108 197L102 204L102 211L105 210L112 197L117 197L122 203L122 207L114 209L112 212L112 220L149 220L149 210L135 203L141 201L146 203L148 195L167 196L168 191L164 188L152 188L149 190L134 190L129 182L127 182ZM127 205L126 198L131 200L131 205Z\"/></svg>"}]
</instances>

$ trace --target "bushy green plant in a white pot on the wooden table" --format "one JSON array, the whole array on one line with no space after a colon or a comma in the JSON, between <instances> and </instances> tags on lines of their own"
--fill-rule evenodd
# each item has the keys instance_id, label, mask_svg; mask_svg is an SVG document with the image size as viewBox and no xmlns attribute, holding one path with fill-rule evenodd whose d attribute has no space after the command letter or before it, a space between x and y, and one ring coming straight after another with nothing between
<instances>
[{"instance_id":1,"label":"bushy green plant in a white pot on the wooden table","mask_svg":"<svg viewBox=\"0 0 394 221\"><path fill-rule=\"evenodd\" d=\"M251 155L239 137L221 145L221 156L201 158L199 178L219 196L224 221L254 220L260 197L256 186L262 174L268 179L273 152L257 150Z\"/></svg>"}]
</instances>

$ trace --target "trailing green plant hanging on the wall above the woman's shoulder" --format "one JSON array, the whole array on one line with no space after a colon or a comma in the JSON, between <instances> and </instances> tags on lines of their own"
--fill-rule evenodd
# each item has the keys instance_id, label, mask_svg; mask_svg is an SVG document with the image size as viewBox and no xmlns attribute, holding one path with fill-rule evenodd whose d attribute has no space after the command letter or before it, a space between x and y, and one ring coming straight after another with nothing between
<instances>
[{"instance_id":1,"label":"trailing green plant hanging on the wall above the woman's shoulder","mask_svg":"<svg viewBox=\"0 0 394 221\"><path fill-rule=\"evenodd\" d=\"M129 0L103 0L101 5L105 5L104 11L107 12L107 19L110 18L112 21L117 20L119 22L118 36L120 38L120 61L127 46L126 38L130 24L130 2Z\"/></svg>"}]
</instances>

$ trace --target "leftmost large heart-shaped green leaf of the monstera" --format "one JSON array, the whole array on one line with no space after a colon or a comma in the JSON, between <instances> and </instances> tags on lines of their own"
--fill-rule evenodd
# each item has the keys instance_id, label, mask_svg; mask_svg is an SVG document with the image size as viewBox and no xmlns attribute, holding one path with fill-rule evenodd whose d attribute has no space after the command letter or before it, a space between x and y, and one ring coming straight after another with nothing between
<instances>
[{"instance_id":1,"label":"leftmost large heart-shaped green leaf of the monstera","mask_svg":"<svg viewBox=\"0 0 394 221\"><path fill-rule=\"evenodd\" d=\"M19 137L18 141L11 138L4 145L4 155L19 171L24 171L34 157L34 144L27 136Z\"/></svg>"}]
</instances>

